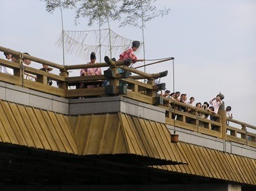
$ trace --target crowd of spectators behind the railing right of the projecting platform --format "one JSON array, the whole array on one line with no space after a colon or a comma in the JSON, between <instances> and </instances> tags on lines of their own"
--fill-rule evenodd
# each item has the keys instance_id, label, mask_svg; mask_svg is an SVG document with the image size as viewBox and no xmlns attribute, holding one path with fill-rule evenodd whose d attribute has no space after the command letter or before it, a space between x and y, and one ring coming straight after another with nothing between
<instances>
[{"instance_id":1,"label":"crowd of spectators behind the railing right of the projecting platform","mask_svg":"<svg viewBox=\"0 0 256 191\"><path fill-rule=\"evenodd\" d=\"M219 94L216 97L212 98L212 100L210 100L209 102L203 102L203 104L201 104L201 102L198 102L198 103L194 104L193 96L191 96L189 98L189 100L187 101L187 94L185 94L185 93L181 94L180 91L171 93L169 90L166 90L166 91L164 91L164 93L161 96L169 98L171 100L175 100L177 102L181 102L181 103L185 103L187 105L194 106L199 109L204 109L206 111L209 111L211 114L218 114L219 107L223 103L222 100L224 98L223 95ZM179 111L183 111L183 112L188 112L188 113L194 112L189 107L183 107L183 106L178 106L178 105L175 106L175 109L178 109ZM217 121L217 118L214 115L207 114L205 112L197 112L197 114L198 114L198 116L200 116L202 118L210 118L210 120L212 120L212 121ZM230 106L226 107L226 118L229 118L229 119L233 118L233 114L231 113ZM227 123L227 125L228 125L228 123Z\"/></svg>"}]
</instances>

